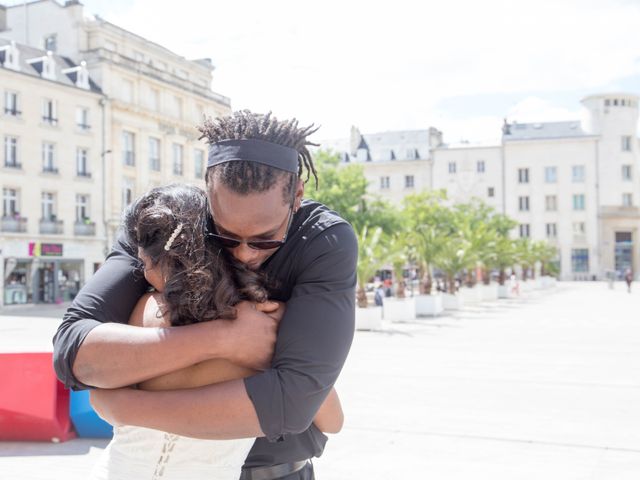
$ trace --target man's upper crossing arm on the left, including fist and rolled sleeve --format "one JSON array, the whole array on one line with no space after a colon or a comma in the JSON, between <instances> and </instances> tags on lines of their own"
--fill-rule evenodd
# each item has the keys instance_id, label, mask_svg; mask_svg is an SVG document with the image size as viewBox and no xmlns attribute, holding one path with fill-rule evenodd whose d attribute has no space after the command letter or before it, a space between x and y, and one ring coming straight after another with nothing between
<instances>
[{"instance_id":1,"label":"man's upper crossing arm on the left, including fist and rolled sleeve","mask_svg":"<svg viewBox=\"0 0 640 480\"><path fill-rule=\"evenodd\" d=\"M54 366L72 388L117 388L184 368L207 358L264 367L276 322L249 306L239 321L169 328L126 325L148 289L137 259L121 238L82 288L54 336Z\"/></svg>"}]
</instances>

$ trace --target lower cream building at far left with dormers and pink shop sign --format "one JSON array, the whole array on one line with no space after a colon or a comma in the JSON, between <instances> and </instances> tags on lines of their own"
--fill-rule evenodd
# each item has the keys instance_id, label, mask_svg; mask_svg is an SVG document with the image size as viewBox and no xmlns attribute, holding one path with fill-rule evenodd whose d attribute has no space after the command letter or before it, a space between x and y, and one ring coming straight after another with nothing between
<instances>
[{"instance_id":1,"label":"lower cream building at far left with dormers and pink shop sign","mask_svg":"<svg viewBox=\"0 0 640 480\"><path fill-rule=\"evenodd\" d=\"M103 261L103 95L85 65L0 39L0 305L75 296Z\"/></svg>"}]
</instances>

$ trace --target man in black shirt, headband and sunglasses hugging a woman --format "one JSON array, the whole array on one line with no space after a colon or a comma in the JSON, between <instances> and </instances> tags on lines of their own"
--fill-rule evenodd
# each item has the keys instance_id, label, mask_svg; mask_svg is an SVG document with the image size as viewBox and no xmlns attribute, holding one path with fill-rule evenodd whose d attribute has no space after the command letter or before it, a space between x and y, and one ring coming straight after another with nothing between
<instances>
[{"instance_id":1,"label":"man in black shirt, headband and sunglasses hugging a woman","mask_svg":"<svg viewBox=\"0 0 640 480\"><path fill-rule=\"evenodd\" d=\"M148 285L134 275L134 252L121 238L65 315L54 337L55 368L67 386L100 387L94 406L116 424L196 438L262 437L243 479L314 478L309 459L326 437L312 420L353 339L356 238L335 213L302 200L302 173L316 176L311 127L242 111L200 131L210 144L208 235L264 272L270 297L286 302L270 366L264 344L275 321L246 305L232 322L126 325ZM122 388L209 358L264 370L199 389Z\"/></svg>"}]
</instances>

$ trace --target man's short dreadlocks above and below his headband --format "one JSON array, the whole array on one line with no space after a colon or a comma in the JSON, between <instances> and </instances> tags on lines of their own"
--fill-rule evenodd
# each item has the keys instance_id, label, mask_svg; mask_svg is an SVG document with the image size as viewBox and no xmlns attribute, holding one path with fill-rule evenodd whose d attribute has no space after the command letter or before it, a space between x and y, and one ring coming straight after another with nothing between
<instances>
[{"instance_id":1,"label":"man's short dreadlocks above and below his headband","mask_svg":"<svg viewBox=\"0 0 640 480\"><path fill-rule=\"evenodd\" d=\"M202 134L198 140L206 138L208 144L223 140L254 139L277 143L298 152L297 176L261 163L234 161L208 168L206 175L208 188L213 184L215 177L233 191L244 195L269 190L278 180L285 178L288 183L285 185L283 195L284 201L288 202L296 186L296 180L302 177L305 170L307 173L305 183L313 175L315 186L318 188L318 174L307 149L308 145L317 146L318 144L311 143L307 137L316 132L319 127L314 125L298 127L298 120L295 118L280 121L272 116L271 112L263 115L249 110L240 110L224 117L215 119L209 117L197 128Z\"/></svg>"}]
</instances>

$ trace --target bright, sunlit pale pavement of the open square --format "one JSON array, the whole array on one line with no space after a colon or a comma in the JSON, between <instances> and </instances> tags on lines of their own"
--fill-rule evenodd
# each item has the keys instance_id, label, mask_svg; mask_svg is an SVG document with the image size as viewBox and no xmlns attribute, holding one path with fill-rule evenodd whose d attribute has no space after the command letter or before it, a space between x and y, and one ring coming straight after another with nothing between
<instances>
[{"instance_id":1,"label":"bright, sunlit pale pavement of the open square","mask_svg":"<svg viewBox=\"0 0 640 480\"><path fill-rule=\"evenodd\" d=\"M337 385L345 427L318 479L639 479L635 287L560 283L357 332ZM5 350L21 322L57 324L2 315ZM0 442L0 479L84 479L105 443Z\"/></svg>"}]
</instances>

